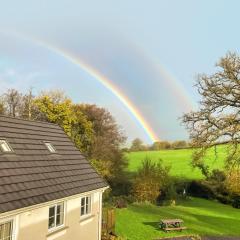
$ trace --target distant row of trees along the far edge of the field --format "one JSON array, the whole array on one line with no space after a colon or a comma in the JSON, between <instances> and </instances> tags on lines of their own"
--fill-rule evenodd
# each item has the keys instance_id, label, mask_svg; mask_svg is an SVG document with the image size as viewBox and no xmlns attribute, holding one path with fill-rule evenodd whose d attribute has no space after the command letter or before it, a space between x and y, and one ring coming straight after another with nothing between
<instances>
[{"instance_id":1,"label":"distant row of trees along the far edge of the field","mask_svg":"<svg viewBox=\"0 0 240 240\"><path fill-rule=\"evenodd\" d=\"M173 142L169 141L158 141L154 142L152 145L146 145L139 138L136 138L132 141L131 147L126 149L131 152L137 151L158 151L158 150L167 150L167 149L183 149L189 148L189 143L185 140L177 140Z\"/></svg>"}]
</instances>

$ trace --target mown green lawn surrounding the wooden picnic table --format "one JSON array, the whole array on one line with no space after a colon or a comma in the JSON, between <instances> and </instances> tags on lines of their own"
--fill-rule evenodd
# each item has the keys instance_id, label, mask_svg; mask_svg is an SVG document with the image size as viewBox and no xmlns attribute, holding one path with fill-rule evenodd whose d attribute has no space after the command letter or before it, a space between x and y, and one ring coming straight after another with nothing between
<instances>
[{"instance_id":1,"label":"mown green lawn surrounding the wooden picnic table","mask_svg":"<svg viewBox=\"0 0 240 240\"><path fill-rule=\"evenodd\" d=\"M165 233L160 219L180 218L188 230ZM214 201L192 198L176 206L133 204L117 210L116 232L128 240L151 240L188 234L240 236L240 210Z\"/></svg>"}]
</instances>

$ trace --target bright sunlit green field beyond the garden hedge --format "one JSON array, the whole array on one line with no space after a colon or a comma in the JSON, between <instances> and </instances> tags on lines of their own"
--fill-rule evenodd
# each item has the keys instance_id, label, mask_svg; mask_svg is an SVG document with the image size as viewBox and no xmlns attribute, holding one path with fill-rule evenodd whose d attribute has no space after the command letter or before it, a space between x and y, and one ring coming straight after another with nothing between
<instances>
[{"instance_id":1,"label":"bright sunlit green field beyond the garden hedge","mask_svg":"<svg viewBox=\"0 0 240 240\"><path fill-rule=\"evenodd\" d=\"M205 162L212 169L221 169L224 166L225 155L226 146L220 145L217 147L217 159L215 159L214 149L211 149L206 156ZM143 151L127 154L130 172L136 171L142 161L148 157L153 161L162 159L165 165L171 166L170 174L172 176L188 179L201 179L203 176L200 170L191 167L191 156L191 149Z\"/></svg>"}]
</instances>

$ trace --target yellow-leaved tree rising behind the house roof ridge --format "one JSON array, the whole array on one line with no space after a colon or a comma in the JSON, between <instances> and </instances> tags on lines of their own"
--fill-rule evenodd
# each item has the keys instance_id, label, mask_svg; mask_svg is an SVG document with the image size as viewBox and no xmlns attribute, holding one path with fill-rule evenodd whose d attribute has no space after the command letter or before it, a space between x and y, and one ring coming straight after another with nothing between
<instances>
[{"instance_id":1,"label":"yellow-leaved tree rising behind the house roof ridge","mask_svg":"<svg viewBox=\"0 0 240 240\"><path fill-rule=\"evenodd\" d=\"M73 104L59 91L42 93L34 100L34 104L40 112L39 120L61 126L76 146L83 153L88 153L93 139L93 128L79 105Z\"/></svg>"}]
</instances>

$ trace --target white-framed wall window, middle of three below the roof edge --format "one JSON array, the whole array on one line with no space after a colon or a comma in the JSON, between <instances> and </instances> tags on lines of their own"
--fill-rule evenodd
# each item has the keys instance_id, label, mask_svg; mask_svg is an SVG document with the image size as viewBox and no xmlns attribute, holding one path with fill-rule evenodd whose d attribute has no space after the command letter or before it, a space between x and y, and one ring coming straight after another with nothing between
<instances>
[{"instance_id":1,"label":"white-framed wall window, middle of three below the roof edge","mask_svg":"<svg viewBox=\"0 0 240 240\"><path fill-rule=\"evenodd\" d=\"M62 226L64 222L64 203L49 208L48 229Z\"/></svg>"}]
</instances>

